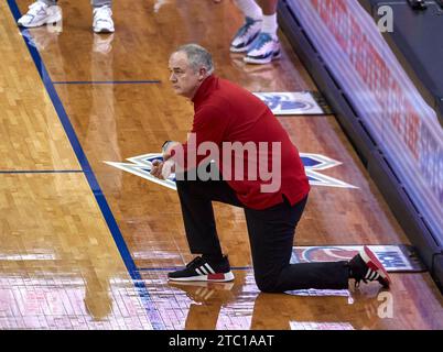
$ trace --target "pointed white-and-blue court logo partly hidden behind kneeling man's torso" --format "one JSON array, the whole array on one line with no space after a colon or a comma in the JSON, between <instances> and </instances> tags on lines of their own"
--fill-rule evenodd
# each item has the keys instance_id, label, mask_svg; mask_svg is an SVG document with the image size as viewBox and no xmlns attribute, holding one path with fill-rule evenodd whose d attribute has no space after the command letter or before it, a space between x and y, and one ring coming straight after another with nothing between
<instances>
[{"instance_id":1,"label":"pointed white-and-blue court logo partly hidden behind kneeling man's torso","mask_svg":"<svg viewBox=\"0 0 443 352\"><path fill-rule=\"evenodd\" d=\"M341 162L334 161L333 158L320 154L300 153L300 156L302 158L307 178L312 186L358 188L343 180L320 173L321 170L325 170L342 165ZM129 163L116 163L116 162L105 162L105 163L110 166L120 168L125 172L128 172L130 174L143 177L144 179L148 179L155 184L176 190L174 174L171 174L171 176L168 179L159 179L150 174L152 163L154 161L162 161L162 160L163 160L162 154L151 153L129 157L127 158Z\"/></svg>"}]
</instances>

